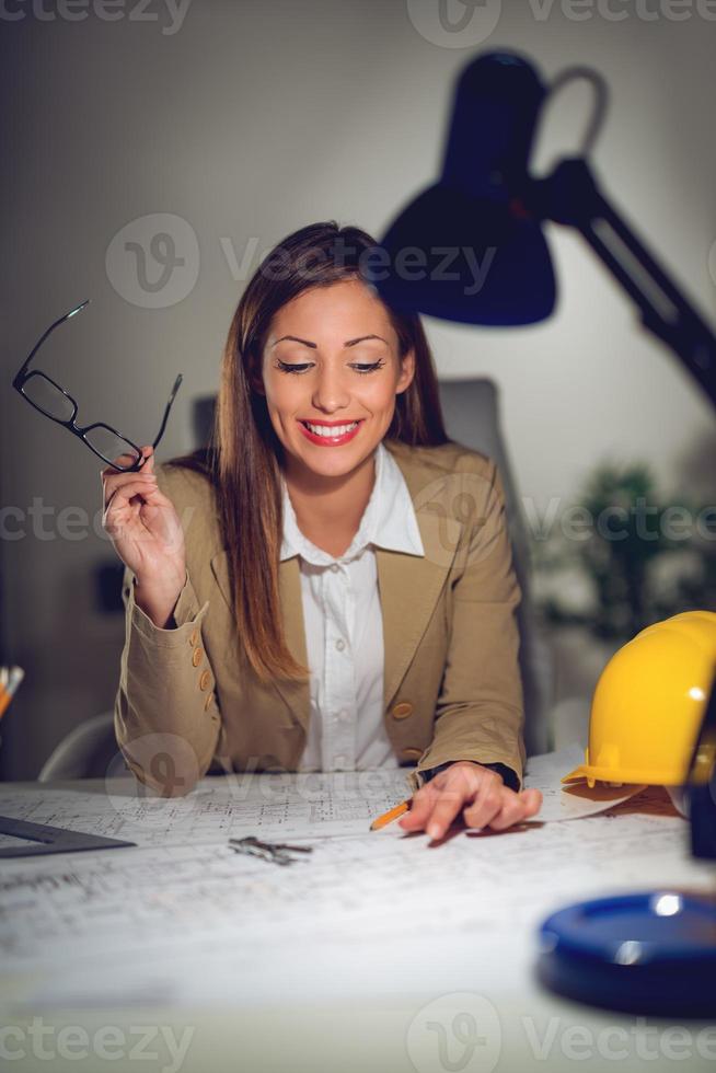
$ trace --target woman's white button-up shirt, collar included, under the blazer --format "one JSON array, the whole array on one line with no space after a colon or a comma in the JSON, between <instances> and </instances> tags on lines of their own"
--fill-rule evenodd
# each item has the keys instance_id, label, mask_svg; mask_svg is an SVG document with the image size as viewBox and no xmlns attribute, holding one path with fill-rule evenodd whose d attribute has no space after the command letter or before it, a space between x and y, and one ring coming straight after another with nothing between
<instances>
[{"instance_id":1,"label":"woman's white button-up shirt, collar included, under the blazer","mask_svg":"<svg viewBox=\"0 0 716 1073\"><path fill-rule=\"evenodd\" d=\"M383 620L374 546L425 555L411 494L378 445L376 481L350 547L334 558L298 528L281 478L280 558L299 555L311 717L301 771L396 768L383 723Z\"/></svg>"}]
</instances>

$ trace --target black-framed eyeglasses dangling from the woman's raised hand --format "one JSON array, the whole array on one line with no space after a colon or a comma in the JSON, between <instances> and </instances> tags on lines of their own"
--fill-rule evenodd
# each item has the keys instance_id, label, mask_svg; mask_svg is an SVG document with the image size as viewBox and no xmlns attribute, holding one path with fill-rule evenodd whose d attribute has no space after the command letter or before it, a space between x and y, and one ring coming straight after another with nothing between
<instances>
[{"instance_id":1,"label":"black-framed eyeglasses dangling from the woman's raised hand","mask_svg":"<svg viewBox=\"0 0 716 1073\"><path fill-rule=\"evenodd\" d=\"M68 428L70 432L74 436L79 436L83 440L91 451L94 451L103 462L107 462L115 470L119 470L123 473L131 473L135 470L141 470L142 465L147 461L142 457L141 448L132 443L131 440L127 439L122 432L118 432L116 428L112 425L105 425L103 422L97 422L94 425L78 425L77 417L77 403L70 395L69 391L61 388L58 383L51 380L44 372L39 372L37 369L31 369L27 371L30 362L35 357L41 346L45 339L55 331L55 328L62 324L63 321L68 321L70 316L74 316L80 310L89 305L90 299L81 302L74 309L71 309L69 313L65 313L60 316L54 324L47 328L44 335L39 337L35 346L30 351L27 358L18 372L16 377L12 381L12 386L20 392L23 399L38 409L41 414L45 417L49 417L50 420L57 422L58 425L63 425ZM172 403L176 396L176 392L180 389L182 382L182 373L174 381L174 386L169 396L169 402L166 403L166 408L164 409L164 416L162 418L162 424L157 435L157 439L152 443L152 449L157 448L159 441L164 435L164 429L166 428L166 420L169 418L169 412L172 408ZM117 462L122 455L127 455L131 461L128 465L120 465Z\"/></svg>"}]
</instances>

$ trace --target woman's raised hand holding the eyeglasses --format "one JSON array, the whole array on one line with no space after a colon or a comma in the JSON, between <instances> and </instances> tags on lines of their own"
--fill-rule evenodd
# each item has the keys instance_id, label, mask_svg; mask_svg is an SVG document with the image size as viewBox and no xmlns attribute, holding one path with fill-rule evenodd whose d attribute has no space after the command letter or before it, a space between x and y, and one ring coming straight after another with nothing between
<instances>
[{"instance_id":1,"label":"woman's raised hand holding the eyeglasses","mask_svg":"<svg viewBox=\"0 0 716 1073\"><path fill-rule=\"evenodd\" d=\"M102 471L102 527L137 579L136 602L164 626L186 579L184 533L174 505L159 491L152 448L143 447L142 455L147 461L137 472Z\"/></svg>"}]
</instances>

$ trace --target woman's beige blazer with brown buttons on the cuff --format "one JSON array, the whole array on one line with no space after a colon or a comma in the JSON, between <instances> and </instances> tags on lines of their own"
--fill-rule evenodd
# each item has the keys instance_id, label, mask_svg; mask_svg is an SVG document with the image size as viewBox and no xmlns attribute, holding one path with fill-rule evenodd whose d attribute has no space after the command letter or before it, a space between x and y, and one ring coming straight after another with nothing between
<instances>
[{"instance_id":1,"label":"woman's beige blazer with brown buttons on the cuff","mask_svg":"<svg viewBox=\"0 0 716 1073\"><path fill-rule=\"evenodd\" d=\"M376 549L384 637L384 720L409 781L454 760L504 763L522 778L520 590L494 462L459 443L384 441L413 498L425 557ZM193 471L161 466L186 539L187 581L175 628L136 605L125 570L126 639L115 730L127 765L159 793L187 793L207 772L296 771L309 683L263 684L239 650L227 552L213 492ZM308 666L295 556L280 564L284 627Z\"/></svg>"}]
</instances>

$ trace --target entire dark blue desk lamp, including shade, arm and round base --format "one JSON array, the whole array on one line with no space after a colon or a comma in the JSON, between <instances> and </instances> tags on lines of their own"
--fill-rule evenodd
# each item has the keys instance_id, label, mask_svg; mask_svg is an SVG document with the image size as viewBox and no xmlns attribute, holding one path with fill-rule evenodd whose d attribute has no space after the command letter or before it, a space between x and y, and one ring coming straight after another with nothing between
<instances>
[{"instance_id":1,"label":"entire dark blue desk lamp, including shade, arm and round base","mask_svg":"<svg viewBox=\"0 0 716 1073\"><path fill-rule=\"evenodd\" d=\"M581 157L542 178L529 163L541 109L588 79L596 107ZM440 181L389 227L366 276L406 312L463 324L519 326L550 316L556 287L542 224L576 228L640 311L642 321L716 405L716 338L666 270L600 193L587 152L599 132L601 76L571 68L551 86L513 53L487 53L458 81ZM686 776L692 853L716 858L716 687ZM643 1014L716 1013L716 902L646 891L566 907L542 925L538 973L573 999Z\"/></svg>"}]
</instances>

